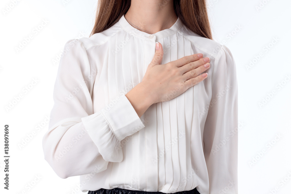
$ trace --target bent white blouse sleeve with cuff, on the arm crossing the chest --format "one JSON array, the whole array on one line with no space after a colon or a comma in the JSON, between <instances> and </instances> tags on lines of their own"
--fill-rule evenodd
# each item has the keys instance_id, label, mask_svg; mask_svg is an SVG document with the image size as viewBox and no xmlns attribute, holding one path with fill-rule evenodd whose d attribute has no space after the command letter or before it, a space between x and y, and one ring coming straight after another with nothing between
<instances>
[{"instance_id":1,"label":"bent white blouse sleeve with cuff, on the arm crossing the chest","mask_svg":"<svg viewBox=\"0 0 291 194\"><path fill-rule=\"evenodd\" d=\"M64 51L54 84L49 129L42 139L45 160L63 179L102 172L108 162L121 162L120 141L145 127L125 95L116 97L113 106L93 113L97 70L90 67L80 40L69 40Z\"/></svg>"}]
</instances>

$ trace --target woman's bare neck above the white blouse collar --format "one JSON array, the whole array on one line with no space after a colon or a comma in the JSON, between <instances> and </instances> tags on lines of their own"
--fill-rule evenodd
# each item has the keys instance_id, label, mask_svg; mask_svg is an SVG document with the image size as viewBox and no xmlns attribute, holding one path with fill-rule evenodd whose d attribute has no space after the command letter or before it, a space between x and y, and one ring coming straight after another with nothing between
<instances>
[{"instance_id":1,"label":"woman's bare neck above the white blouse collar","mask_svg":"<svg viewBox=\"0 0 291 194\"><path fill-rule=\"evenodd\" d=\"M132 0L125 17L134 28L151 34L171 28L178 19L173 0Z\"/></svg>"}]
</instances>

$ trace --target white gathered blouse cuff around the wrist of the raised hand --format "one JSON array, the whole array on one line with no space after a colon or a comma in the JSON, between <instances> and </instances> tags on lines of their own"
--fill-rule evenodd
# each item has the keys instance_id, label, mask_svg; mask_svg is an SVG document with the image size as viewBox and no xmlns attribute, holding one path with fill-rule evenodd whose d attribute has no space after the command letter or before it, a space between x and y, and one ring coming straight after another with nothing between
<instances>
[{"instance_id":1,"label":"white gathered blouse cuff around the wrist of the raised hand","mask_svg":"<svg viewBox=\"0 0 291 194\"><path fill-rule=\"evenodd\" d=\"M125 95L116 98L116 104L110 106L111 104L81 120L103 159L121 162L123 154L119 152L120 141L145 125Z\"/></svg>"}]
</instances>

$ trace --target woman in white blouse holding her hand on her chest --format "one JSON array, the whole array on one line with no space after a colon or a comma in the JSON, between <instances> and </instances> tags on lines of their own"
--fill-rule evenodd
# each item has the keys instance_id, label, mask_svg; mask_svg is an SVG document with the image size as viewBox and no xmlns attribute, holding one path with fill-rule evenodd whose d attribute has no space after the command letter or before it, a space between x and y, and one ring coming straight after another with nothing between
<instances>
[{"instance_id":1,"label":"woman in white blouse holding her hand on her chest","mask_svg":"<svg viewBox=\"0 0 291 194\"><path fill-rule=\"evenodd\" d=\"M157 43L156 43L157 42ZM237 78L204 0L99 0L69 40L45 160L82 192L237 193Z\"/></svg>"}]
</instances>

